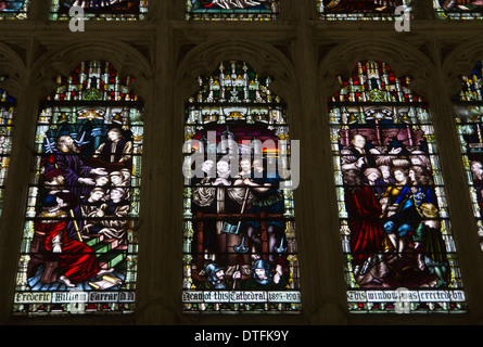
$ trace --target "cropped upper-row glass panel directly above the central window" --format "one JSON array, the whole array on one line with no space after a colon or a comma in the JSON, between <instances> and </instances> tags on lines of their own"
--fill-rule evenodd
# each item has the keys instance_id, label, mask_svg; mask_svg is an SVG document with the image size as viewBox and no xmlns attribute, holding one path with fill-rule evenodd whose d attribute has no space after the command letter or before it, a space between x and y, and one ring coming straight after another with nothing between
<instances>
[{"instance_id":1,"label":"cropped upper-row glass panel directly above the central window","mask_svg":"<svg viewBox=\"0 0 483 347\"><path fill-rule=\"evenodd\" d=\"M281 0L186 0L188 20L271 21Z\"/></svg>"}]
</instances>

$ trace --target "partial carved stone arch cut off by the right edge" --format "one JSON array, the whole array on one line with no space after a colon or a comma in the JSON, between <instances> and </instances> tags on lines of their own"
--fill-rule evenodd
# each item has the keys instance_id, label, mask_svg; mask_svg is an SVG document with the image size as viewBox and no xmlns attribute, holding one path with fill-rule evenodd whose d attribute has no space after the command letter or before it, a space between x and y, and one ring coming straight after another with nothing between
<instances>
[{"instance_id":1,"label":"partial carved stone arch cut off by the right edge","mask_svg":"<svg viewBox=\"0 0 483 347\"><path fill-rule=\"evenodd\" d=\"M461 90L461 76L468 75L478 61L483 60L483 39L476 37L455 47L446 55L442 65L442 75L445 79L445 93L455 98Z\"/></svg>"}]
</instances>

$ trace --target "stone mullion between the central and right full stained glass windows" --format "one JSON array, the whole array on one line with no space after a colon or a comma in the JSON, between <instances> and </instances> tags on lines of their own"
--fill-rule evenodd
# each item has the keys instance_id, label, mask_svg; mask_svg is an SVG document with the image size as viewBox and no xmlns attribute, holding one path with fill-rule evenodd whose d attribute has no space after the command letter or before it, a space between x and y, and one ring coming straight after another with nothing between
<instances>
[{"instance_id":1,"label":"stone mullion between the central and right full stained glass windows","mask_svg":"<svg viewBox=\"0 0 483 347\"><path fill-rule=\"evenodd\" d=\"M308 8L301 13L293 60L298 89L292 139L301 144L301 180L294 192L304 319L343 323L345 285L327 115L327 91L319 81L316 29ZM334 208L320 208L325 205ZM330 279L330 280L329 280Z\"/></svg>"}]
</instances>

